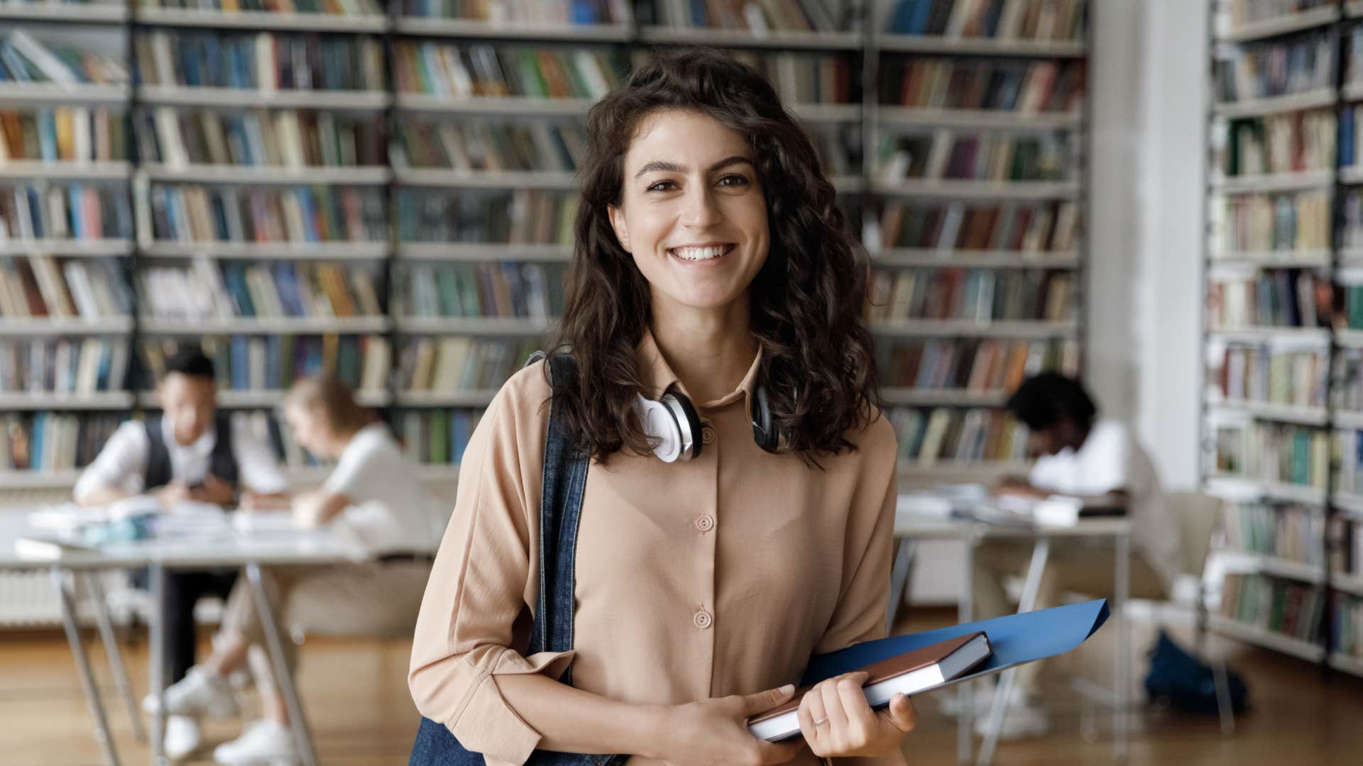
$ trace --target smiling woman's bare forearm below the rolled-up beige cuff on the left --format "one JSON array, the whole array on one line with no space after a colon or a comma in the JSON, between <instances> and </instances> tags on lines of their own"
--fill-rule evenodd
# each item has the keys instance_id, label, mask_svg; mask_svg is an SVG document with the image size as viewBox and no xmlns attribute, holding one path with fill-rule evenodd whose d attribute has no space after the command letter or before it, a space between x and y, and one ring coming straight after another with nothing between
<instances>
[{"instance_id":1,"label":"smiling woman's bare forearm below the rolled-up beige cuff on the left","mask_svg":"<svg viewBox=\"0 0 1363 766\"><path fill-rule=\"evenodd\" d=\"M544 737L540 750L664 758L667 707L607 699L542 673L496 676L507 705Z\"/></svg>"}]
</instances>

